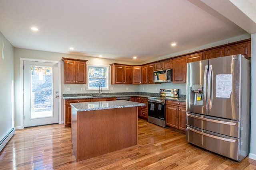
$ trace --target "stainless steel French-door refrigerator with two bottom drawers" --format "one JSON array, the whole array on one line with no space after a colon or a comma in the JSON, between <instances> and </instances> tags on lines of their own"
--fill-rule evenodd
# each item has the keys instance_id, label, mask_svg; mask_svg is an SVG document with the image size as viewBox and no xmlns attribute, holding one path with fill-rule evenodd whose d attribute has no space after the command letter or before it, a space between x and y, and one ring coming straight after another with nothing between
<instances>
[{"instance_id":1,"label":"stainless steel French-door refrigerator with two bottom drawers","mask_svg":"<svg viewBox=\"0 0 256 170\"><path fill-rule=\"evenodd\" d=\"M248 155L249 69L242 55L187 63L186 141L236 161Z\"/></svg>"}]
</instances>

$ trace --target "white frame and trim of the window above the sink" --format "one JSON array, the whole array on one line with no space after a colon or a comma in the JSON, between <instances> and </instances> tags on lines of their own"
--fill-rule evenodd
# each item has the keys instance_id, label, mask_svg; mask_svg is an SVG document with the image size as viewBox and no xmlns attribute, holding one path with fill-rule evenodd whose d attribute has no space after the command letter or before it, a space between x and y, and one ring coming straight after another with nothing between
<instances>
[{"instance_id":1,"label":"white frame and trim of the window above the sink","mask_svg":"<svg viewBox=\"0 0 256 170\"><path fill-rule=\"evenodd\" d=\"M109 65L95 65L95 64L86 64L86 75L87 75L87 83L86 83L86 90L98 90L99 87L89 88L89 67L104 67L106 68L106 87L102 87L102 90L109 90L110 89L110 66Z\"/></svg>"}]
</instances>

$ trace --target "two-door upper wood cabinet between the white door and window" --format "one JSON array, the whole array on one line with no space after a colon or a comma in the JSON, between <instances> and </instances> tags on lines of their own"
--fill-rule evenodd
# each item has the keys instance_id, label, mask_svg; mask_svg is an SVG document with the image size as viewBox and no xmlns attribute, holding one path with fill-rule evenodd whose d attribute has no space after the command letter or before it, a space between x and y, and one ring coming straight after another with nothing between
<instances>
[{"instance_id":1,"label":"two-door upper wood cabinet between the white door and window","mask_svg":"<svg viewBox=\"0 0 256 170\"><path fill-rule=\"evenodd\" d=\"M64 61L64 83L86 83L86 61L62 58Z\"/></svg>"}]
</instances>

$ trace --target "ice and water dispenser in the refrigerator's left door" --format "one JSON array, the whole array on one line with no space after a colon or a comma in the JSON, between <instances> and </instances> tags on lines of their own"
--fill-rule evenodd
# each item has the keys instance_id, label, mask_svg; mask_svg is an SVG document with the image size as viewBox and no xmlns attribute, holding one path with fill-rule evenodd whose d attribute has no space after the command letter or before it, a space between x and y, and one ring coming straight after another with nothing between
<instances>
[{"instance_id":1,"label":"ice and water dispenser in the refrigerator's left door","mask_svg":"<svg viewBox=\"0 0 256 170\"><path fill-rule=\"evenodd\" d=\"M192 85L190 87L190 104L203 106L203 86Z\"/></svg>"}]
</instances>

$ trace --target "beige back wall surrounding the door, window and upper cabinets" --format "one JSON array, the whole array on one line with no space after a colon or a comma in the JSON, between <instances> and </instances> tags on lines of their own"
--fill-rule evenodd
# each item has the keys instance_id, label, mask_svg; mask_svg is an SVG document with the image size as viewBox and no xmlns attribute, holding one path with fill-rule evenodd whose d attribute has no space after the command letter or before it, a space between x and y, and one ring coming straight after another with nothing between
<instances>
[{"instance_id":1,"label":"beige back wall surrounding the door, window and upper cabinets","mask_svg":"<svg viewBox=\"0 0 256 170\"><path fill-rule=\"evenodd\" d=\"M61 61L62 57L64 58L74 58L74 59L84 59L88 60L87 64L99 64L99 65L109 65L111 63L123 63L123 64L136 64L133 62L123 62L116 61L110 59L100 59L95 57L85 57L81 55L71 55L71 54L62 54L62 53L52 53L47 51L38 51L38 50L30 50L30 49L20 49L14 48L14 79L15 79L15 127L18 129L22 128L22 103L20 102L22 98L22 80L21 80L21 70L20 70L20 59L39 59L39 60L47 60L47 61ZM94 91L81 91L81 87L86 87L86 84L64 84L63 78L63 62L61 62L61 94L76 94L76 93L97 93L97 90ZM66 91L66 88L70 87L71 91ZM112 85L114 90L105 90L103 93L108 92L138 92L139 85ZM128 87L128 90L126 88ZM63 108L63 102L62 102ZM63 110L62 110L62 121L63 121Z\"/></svg>"}]
</instances>

